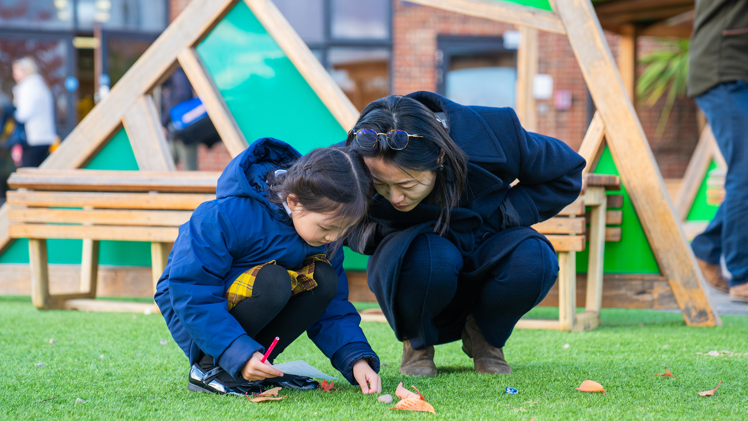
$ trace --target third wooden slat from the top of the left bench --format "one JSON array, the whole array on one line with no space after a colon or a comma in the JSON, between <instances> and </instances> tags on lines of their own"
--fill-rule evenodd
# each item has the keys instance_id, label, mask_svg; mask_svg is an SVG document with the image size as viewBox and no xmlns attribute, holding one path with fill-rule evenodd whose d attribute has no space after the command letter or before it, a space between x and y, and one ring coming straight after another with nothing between
<instances>
[{"instance_id":1,"label":"third wooden slat from the top of the left bench","mask_svg":"<svg viewBox=\"0 0 748 421\"><path fill-rule=\"evenodd\" d=\"M10 222L179 226L191 214L191 210L10 208L7 217Z\"/></svg>"}]
</instances>

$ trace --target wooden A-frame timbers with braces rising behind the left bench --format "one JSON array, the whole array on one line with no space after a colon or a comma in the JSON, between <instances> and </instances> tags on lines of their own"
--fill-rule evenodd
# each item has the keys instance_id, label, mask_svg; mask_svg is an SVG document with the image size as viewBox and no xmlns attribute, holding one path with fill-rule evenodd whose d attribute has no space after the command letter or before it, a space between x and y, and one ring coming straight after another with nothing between
<instances>
[{"instance_id":1,"label":"wooden A-frame timbers with braces rising behind the left bench","mask_svg":"<svg viewBox=\"0 0 748 421\"><path fill-rule=\"evenodd\" d=\"M192 0L114 85L108 97L96 104L40 168L83 168L124 127L139 169L174 171L174 160L168 151L152 94L153 89L161 85L177 65L183 68L202 100L229 154L236 157L244 151L248 146L247 139L195 50L197 44L239 1ZM358 118L355 106L319 64L275 4L271 0L243 1L340 126L352 127ZM0 252L12 242L8 235L7 213L7 204L2 205Z\"/></svg>"}]
</instances>

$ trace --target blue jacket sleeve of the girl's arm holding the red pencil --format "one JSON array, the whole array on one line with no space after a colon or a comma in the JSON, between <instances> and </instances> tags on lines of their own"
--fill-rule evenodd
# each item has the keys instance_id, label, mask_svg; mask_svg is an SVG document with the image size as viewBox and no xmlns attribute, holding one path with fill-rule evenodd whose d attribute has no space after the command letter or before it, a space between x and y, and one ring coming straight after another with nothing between
<instances>
[{"instance_id":1,"label":"blue jacket sleeve of the girl's arm holding the red pencil","mask_svg":"<svg viewBox=\"0 0 748 421\"><path fill-rule=\"evenodd\" d=\"M169 291L174 312L192 340L233 378L263 346L228 312L224 277L239 240L227 213L216 202L194 210L174 243Z\"/></svg>"}]
</instances>

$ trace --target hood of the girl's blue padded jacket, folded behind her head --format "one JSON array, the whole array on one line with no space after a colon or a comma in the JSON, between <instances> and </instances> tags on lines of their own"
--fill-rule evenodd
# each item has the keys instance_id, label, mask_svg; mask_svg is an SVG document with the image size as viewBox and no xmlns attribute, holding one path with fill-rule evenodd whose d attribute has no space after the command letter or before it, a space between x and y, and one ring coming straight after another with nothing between
<instances>
[{"instance_id":1,"label":"hood of the girl's blue padded jacket, folded behind her head","mask_svg":"<svg viewBox=\"0 0 748 421\"><path fill-rule=\"evenodd\" d=\"M286 142L272 137L257 139L226 166L218 178L215 199L250 197L265 205L271 213L276 213L278 205L267 198L266 175L287 168L300 157L301 154Z\"/></svg>"}]
</instances>

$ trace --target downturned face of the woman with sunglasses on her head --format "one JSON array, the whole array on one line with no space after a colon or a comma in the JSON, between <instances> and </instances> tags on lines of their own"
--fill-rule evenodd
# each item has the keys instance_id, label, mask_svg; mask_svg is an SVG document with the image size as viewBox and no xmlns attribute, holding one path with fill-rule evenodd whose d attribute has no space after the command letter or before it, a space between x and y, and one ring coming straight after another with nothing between
<instances>
[{"instance_id":1,"label":"downturned face of the woman with sunglasses on her head","mask_svg":"<svg viewBox=\"0 0 748 421\"><path fill-rule=\"evenodd\" d=\"M402 212L413 210L434 190L436 174L433 171L399 169L384 160L365 158L372 173L374 188Z\"/></svg>"}]
</instances>

